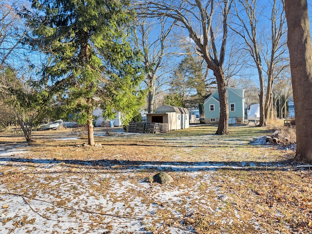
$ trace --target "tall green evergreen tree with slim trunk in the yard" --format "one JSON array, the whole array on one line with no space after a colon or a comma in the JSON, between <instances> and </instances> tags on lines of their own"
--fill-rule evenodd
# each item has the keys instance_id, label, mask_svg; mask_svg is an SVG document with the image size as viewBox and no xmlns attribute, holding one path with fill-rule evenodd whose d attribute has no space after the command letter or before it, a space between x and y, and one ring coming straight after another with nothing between
<instances>
[{"instance_id":1,"label":"tall green evergreen tree with slim trunk in the yard","mask_svg":"<svg viewBox=\"0 0 312 234\"><path fill-rule=\"evenodd\" d=\"M88 144L94 145L92 111L102 100L106 115L118 111L116 101L124 110L142 102L139 53L129 44L134 11L127 0L31 2L21 15L33 29L29 42L47 54L41 81L63 94L67 110L78 111L78 121L87 124Z\"/></svg>"}]
</instances>

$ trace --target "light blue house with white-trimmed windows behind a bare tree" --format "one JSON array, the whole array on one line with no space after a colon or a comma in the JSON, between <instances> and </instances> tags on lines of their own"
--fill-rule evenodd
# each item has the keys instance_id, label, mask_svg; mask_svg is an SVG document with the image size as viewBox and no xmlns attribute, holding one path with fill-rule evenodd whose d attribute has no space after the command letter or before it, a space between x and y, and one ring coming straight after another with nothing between
<instances>
[{"instance_id":1,"label":"light blue house with white-trimmed windows behind a bare tree","mask_svg":"<svg viewBox=\"0 0 312 234\"><path fill-rule=\"evenodd\" d=\"M228 102L229 102L229 124L236 122L244 122L245 118L245 98L244 90L227 87ZM205 102L205 123L219 123L220 118L220 102L218 91L215 91L209 96Z\"/></svg>"}]
</instances>

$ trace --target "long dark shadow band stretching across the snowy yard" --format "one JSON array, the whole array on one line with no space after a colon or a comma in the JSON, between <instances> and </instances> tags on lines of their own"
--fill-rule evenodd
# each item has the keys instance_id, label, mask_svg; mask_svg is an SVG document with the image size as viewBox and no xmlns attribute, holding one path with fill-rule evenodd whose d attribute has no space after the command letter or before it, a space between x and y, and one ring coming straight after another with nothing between
<instances>
[{"instance_id":1,"label":"long dark shadow band stretching across the snowy yard","mask_svg":"<svg viewBox=\"0 0 312 234\"><path fill-rule=\"evenodd\" d=\"M28 163L44 164L49 167L79 167L93 170L114 171L165 171L165 172L200 172L212 170L245 170L245 171L286 171L290 167L294 167L292 159L284 159L279 161L258 162L258 161L139 161L139 160L70 160L70 159L29 159L17 157L0 157L0 162L18 162L19 164L9 164L6 166L24 167L36 165L27 165ZM23 163L27 163L23 165ZM2 163L1 163L2 164ZM54 165L51 165L54 164ZM2 164L3 165L3 164Z\"/></svg>"}]
</instances>

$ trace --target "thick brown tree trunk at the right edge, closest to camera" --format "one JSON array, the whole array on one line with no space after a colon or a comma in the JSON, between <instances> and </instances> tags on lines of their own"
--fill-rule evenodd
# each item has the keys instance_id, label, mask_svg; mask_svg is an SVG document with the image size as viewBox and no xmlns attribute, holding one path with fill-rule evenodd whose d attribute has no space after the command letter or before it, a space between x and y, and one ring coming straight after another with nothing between
<instances>
[{"instance_id":1,"label":"thick brown tree trunk at the right edge, closest to camera","mask_svg":"<svg viewBox=\"0 0 312 234\"><path fill-rule=\"evenodd\" d=\"M312 162L312 45L307 0L285 0L285 12L296 118L296 158Z\"/></svg>"}]
</instances>

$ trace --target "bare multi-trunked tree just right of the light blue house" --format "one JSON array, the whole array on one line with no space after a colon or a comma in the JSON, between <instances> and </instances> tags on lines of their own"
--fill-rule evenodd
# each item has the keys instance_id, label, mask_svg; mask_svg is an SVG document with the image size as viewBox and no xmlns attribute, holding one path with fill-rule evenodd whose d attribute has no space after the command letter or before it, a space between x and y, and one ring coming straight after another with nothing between
<instances>
[{"instance_id":1,"label":"bare multi-trunked tree just right of the light blue house","mask_svg":"<svg viewBox=\"0 0 312 234\"><path fill-rule=\"evenodd\" d=\"M267 125L267 119L269 117L270 110L273 103L273 81L278 76L280 71L276 71L275 67L277 63L284 62L285 57L285 40L283 36L284 30L284 11L281 4L277 5L277 0L273 0L271 9L271 34L270 37L263 40L259 40L258 33L258 21L260 13L257 12L258 0L238 0L239 4L235 5L235 15L238 19L238 23L233 22L231 28L238 35L244 39L251 57L254 59L256 65L260 92L259 92L259 104L260 104L260 126ZM245 14L242 14L240 8ZM245 16L245 17L244 17ZM236 26L234 26L236 24ZM270 41L264 50L262 41ZM262 64L262 60L266 62L266 68ZM265 95L265 79L263 71L267 74L267 93Z\"/></svg>"}]
</instances>

